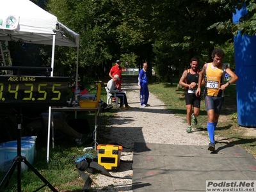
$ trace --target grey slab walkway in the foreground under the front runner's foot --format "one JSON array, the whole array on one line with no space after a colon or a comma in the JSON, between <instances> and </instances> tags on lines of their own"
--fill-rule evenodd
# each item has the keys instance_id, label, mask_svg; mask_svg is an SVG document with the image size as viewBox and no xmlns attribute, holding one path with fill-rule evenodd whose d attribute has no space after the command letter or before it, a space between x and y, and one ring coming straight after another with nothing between
<instances>
[{"instance_id":1,"label":"grey slab walkway in the foreground under the front runner's foot","mask_svg":"<svg viewBox=\"0 0 256 192\"><path fill-rule=\"evenodd\" d=\"M243 148L216 148L134 143L132 190L205 191L206 180L256 179L256 160Z\"/></svg>"}]
</instances>

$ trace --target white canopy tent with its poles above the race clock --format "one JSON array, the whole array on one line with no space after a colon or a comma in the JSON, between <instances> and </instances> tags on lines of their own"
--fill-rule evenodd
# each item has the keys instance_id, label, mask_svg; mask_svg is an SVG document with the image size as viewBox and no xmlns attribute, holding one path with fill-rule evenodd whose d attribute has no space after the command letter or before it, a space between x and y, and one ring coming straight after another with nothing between
<instances>
[{"instance_id":1,"label":"white canopy tent with its poles above the race clock","mask_svg":"<svg viewBox=\"0 0 256 192\"><path fill-rule=\"evenodd\" d=\"M58 21L56 16L29 0L1 0L0 40L52 45L51 76L54 72L55 45L77 47L77 78L79 34L68 29ZM47 163L49 162L50 117L51 107L49 108Z\"/></svg>"}]
</instances>

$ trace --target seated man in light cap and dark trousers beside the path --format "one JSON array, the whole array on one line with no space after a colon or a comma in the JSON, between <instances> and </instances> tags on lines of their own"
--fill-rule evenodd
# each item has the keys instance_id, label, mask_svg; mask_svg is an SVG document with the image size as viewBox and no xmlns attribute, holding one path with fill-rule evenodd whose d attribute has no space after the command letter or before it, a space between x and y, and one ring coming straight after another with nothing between
<instances>
[{"instance_id":1,"label":"seated man in light cap and dark trousers beside the path","mask_svg":"<svg viewBox=\"0 0 256 192\"><path fill-rule=\"evenodd\" d=\"M113 79L110 79L108 81L107 93L109 97L113 96L113 94L116 93L116 97L120 99L120 107L119 107L120 109L131 109L132 107L128 105L126 94L122 92L122 90L118 90L115 86L115 82L118 81L118 79L119 79L119 76L116 74Z\"/></svg>"}]
</instances>

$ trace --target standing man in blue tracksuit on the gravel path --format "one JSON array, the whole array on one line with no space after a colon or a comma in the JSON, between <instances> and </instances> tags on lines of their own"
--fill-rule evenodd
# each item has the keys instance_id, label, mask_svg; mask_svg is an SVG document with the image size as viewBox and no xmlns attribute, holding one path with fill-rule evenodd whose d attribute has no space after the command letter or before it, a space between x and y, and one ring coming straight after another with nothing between
<instances>
[{"instance_id":1,"label":"standing man in blue tracksuit on the gravel path","mask_svg":"<svg viewBox=\"0 0 256 192\"><path fill-rule=\"evenodd\" d=\"M139 73L140 104L142 108L145 108L146 106L150 106L150 104L148 104L148 97L149 97L148 74L147 74L148 63L143 63L142 67L143 68L140 70L140 73Z\"/></svg>"}]
</instances>

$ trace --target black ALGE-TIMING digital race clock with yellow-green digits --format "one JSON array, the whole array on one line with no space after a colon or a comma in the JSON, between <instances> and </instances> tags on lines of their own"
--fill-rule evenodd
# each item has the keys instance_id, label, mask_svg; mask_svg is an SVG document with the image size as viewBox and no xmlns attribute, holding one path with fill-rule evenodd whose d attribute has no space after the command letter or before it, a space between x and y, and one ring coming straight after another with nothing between
<instances>
[{"instance_id":1,"label":"black ALGE-TIMING digital race clock with yellow-green digits","mask_svg":"<svg viewBox=\"0 0 256 192\"><path fill-rule=\"evenodd\" d=\"M0 106L67 106L68 79L0 76Z\"/></svg>"}]
</instances>

